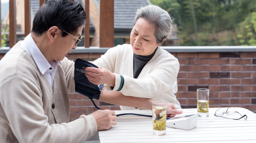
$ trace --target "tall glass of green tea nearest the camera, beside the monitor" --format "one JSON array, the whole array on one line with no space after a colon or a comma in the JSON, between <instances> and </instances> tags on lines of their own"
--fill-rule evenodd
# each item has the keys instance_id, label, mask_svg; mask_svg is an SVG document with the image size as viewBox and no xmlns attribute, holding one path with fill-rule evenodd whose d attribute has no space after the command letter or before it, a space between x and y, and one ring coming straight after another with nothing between
<instances>
[{"instance_id":1,"label":"tall glass of green tea nearest the camera, beside the monitor","mask_svg":"<svg viewBox=\"0 0 256 143\"><path fill-rule=\"evenodd\" d=\"M152 103L153 112L153 133L154 135L166 134L166 102L154 101Z\"/></svg>"}]
</instances>

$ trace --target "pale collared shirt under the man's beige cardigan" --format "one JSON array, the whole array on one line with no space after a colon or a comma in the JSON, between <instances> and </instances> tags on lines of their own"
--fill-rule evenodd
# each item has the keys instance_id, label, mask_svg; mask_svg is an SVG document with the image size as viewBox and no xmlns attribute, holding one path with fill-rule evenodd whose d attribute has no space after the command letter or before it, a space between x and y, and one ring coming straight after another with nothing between
<instances>
[{"instance_id":1,"label":"pale collared shirt under the man's beige cardigan","mask_svg":"<svg viewBox=\"0 0 256 143\"><path fill-rule=\"evenodd\" d=\"M21 41L21 46L29 53L29 55L35 61L39 71L46 77L54 89L53 77L59 61L53 60L48 62L35 44L31 34L29 34L23 41Z\"/></svg>"}]
</instances>

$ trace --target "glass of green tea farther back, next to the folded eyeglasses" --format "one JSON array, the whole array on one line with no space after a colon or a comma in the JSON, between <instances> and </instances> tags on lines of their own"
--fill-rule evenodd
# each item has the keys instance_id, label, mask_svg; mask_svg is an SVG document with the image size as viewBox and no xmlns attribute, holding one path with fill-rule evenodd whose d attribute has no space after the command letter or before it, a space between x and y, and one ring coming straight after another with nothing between
<instances>
[{"instance_id":1,"label":"glass of green tea farther back, next to the folded eyeglasses","mask_svg":"<svg viewBox=\"0 0 256 143\"><path fill-rule=\"evenodd\" d=\"M197 89L197 115L199 117L209 116L209 89Z\"/></svg>"}]
</instances>

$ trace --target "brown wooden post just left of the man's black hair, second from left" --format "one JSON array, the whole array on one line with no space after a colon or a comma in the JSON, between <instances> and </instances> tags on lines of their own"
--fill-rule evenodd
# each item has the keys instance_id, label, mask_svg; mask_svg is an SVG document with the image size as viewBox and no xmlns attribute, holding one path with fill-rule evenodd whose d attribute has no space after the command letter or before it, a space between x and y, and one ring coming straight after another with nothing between
<instances>
[{"instance_id":1,"label":"brown wooden post just left of the man's black hair, second from left","mask_svg":"<svg viewBox=\"0 0 256 143\"><path fill-rule=\"evenodd\" d=\"M29 33L31 32L31 10L30 10L30 0L25 0L25 35L24 37L26 37L27 35L29 35Z\"/></svg>"}]
</instances>

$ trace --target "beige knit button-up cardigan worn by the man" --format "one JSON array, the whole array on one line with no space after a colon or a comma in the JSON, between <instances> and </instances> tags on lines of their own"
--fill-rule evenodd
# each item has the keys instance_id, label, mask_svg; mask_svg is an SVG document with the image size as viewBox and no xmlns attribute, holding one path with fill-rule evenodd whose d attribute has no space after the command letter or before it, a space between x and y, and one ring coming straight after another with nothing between
<instances>
[{"instance_id":1,"label":"beige knit button-up cardigan worn by the man","mask_svg":"<svg viewBox=\"0 0 256 143\"><path fill-rule=\"evenodd\" d=\"M94 135L92 115L69 122L68 93L75 93L74 62L60 61L53 91L18 42L0 61L0 142L78 143Z\"/></svg>"}]
</instances>

